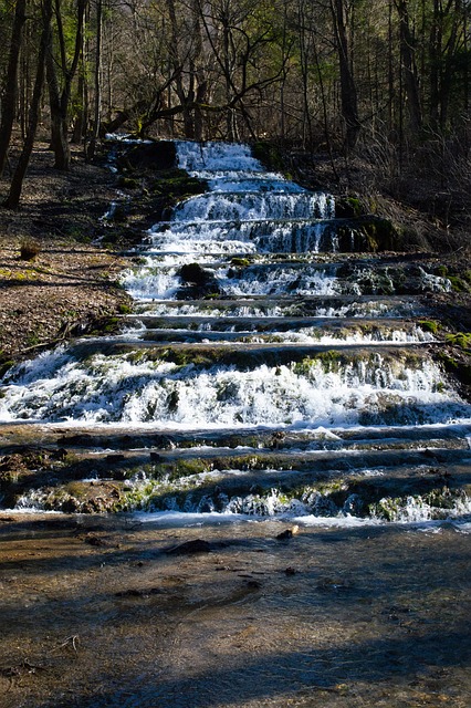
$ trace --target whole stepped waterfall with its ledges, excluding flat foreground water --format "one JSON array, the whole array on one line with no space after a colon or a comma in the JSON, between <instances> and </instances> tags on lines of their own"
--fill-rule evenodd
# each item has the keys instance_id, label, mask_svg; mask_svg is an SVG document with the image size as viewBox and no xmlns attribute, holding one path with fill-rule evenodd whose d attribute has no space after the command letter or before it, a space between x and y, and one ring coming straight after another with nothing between
<instances>
[{"instance_id":1,"label":"whole stepped waterfall with its ledges, excluding flat foreground water","mask_svg":"<svg viewBox=\"0 0 471 708\"><path fill-rule=\"evenodd\" d=\"M1 382L3 439L38 427L42 459L65 456L4 506L468 518L471 406L433 357L421 298L450 281L426 262L338 252L348 225L334 198L268 173L248 146L176 147L208 191L143 235L122 331ZM61 470L72 487L51 483Z\"/></svg>"}]
</instances>

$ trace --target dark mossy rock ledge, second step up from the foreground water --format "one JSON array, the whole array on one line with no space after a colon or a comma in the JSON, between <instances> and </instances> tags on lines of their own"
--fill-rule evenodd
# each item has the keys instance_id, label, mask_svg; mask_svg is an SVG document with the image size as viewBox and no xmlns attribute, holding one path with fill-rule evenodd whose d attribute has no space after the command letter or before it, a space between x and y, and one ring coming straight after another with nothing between
<instances>
[{"instance_id":1,"label":"dark mossy rock ledge, second step up from the foreground water","mask_svg":"<svg viewBox=\"0 0 471 708\"><path fill-rule=\"evenodd\" d=\"M93 448L69 445L67 440L61 447L43 446L4 448L8 452L2 458L2 469L10 470L10 462L17 464L21 459L35 459L35 469L27 475L29 483L55 479L77 480L85 477L96 479L124 480L133 478L163 479L170 476L174 481L184 480L192 475L221 472L232 477L233 473L251 472L268 480L282 475L283 478L293 473L296 478L304 476L316 479L318 475L331 477L356 473L394 475L397 468L423 468L439 470L446 473L451 465L470 467L471 451L465 442L453 440L429 441L427 447L417 442L404 445L401 442L385 444L350 444L336 448L305 449L300 451L290 447L284 448L201 448L189 449L118 449ZM73 442L73 438L69 442ZM88 440L90 445L90 440ZM17 456L15 459L14 456ZM57 480L56 480L57 481ZM1 486L15 482L6 477ZM264 483L264 482L263 482Z\"/></svg>"}]
</instances>

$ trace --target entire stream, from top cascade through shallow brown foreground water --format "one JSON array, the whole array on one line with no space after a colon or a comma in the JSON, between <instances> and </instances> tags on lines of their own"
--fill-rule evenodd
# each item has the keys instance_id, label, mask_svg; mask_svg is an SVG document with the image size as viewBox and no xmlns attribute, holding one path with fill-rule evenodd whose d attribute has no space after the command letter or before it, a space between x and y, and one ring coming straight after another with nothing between
<instances>
[{"instance_id":1,"label":"entire stream, from top cascade through shallow brown foreground water","mask_svg":"<svg viewBox=\"0 0 471 708\"><path fill-rule=\"evenodd\" d=\"M248 146L176 148L208 188L129 254L119 332L0 382L3 454L42 456L0 510L6 708L469 706L450 282Z\"/></svg>"}]
</instances>

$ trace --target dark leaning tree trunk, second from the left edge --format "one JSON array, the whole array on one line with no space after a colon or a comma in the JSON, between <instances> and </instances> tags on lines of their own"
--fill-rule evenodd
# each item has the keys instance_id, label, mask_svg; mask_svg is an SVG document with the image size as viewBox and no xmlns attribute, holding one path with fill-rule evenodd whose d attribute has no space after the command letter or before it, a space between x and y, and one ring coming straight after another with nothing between
<instances>
[{"instance_id":1,"label":"dark leaning tree trunk, second from the left edge","mask_svg":"<svg viewBox=\"0 0 471 708\"><path fill-rule=\"evenodd\" d=\"M7 209L18 209L21 198L21 191L23 188L23 179L27 174L28 166L30 164L31 153L33 150L34 138L38 129L38 123L41 111L41 95L44 86L44 64L45 55L50 44L51 38L51 18L52 18L52 0L44 0L42 7L43 28L41 32L40 46L38 52L38 69L34 81L33 95L31 98L30 116L27 131L27 137L24 140L23 149L18 160L17 168L13 173L13 177L10 185L9 195L3 202L3 207Z\"/></svg>"}]
</instances>

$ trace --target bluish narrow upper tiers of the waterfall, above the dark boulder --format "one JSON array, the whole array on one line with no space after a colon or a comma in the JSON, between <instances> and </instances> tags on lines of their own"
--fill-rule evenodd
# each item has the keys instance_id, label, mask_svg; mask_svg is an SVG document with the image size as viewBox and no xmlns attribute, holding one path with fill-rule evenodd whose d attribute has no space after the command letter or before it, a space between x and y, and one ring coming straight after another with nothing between
<instances>
[{"instance_id":1,"label":"bluish narrow upper tiers of the waterfall, above the dark boulder","mask_svg":"<svg viewBox=\"0 0 471 708\"><path fill-rule=\"evenodd\" d=\"M174 253L318 251L334 199L265 173L243 145L178 143L179 166L210 191L177 207L150 230L153 248ZM224 167L228 171L224 171ZM335 239L329 238L331 250Z\"/></svg>"}]
</instances>

